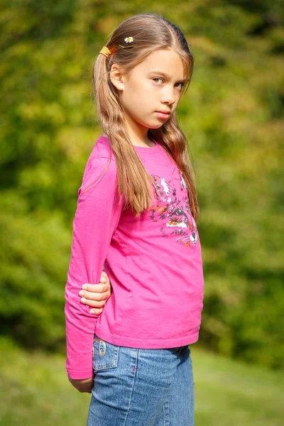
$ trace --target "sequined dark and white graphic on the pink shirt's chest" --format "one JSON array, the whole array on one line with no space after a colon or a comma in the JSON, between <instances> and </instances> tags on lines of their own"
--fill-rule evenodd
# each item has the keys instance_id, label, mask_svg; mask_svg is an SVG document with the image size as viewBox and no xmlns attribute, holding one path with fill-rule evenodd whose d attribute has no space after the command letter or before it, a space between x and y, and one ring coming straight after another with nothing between
<instances>
[{"instance_id":1,"label":"sequined dark and white graphic on the pink shirt's chest","mask_svg":"<svg viewBox=\"0 0 284 426\"><path fill-rule=\"evenodd\" d=\"M195 219L190 211L187 187L182 173L166 180L151 175L155 187L155 205L150 210L153 222L163 222L160 232L165 237L176 236L175 241L183 246L195 249L198 231ZM177 188L180 187L180 191Z\"/></svg>"}]
</instances>

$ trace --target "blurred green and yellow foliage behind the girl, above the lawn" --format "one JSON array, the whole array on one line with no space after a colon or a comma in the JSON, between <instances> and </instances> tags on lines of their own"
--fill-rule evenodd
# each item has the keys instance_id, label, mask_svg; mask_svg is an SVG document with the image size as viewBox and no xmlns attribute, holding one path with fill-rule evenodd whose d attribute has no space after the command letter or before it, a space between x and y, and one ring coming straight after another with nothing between
<instances>
[{"instance_id":1,"label":"blurred green and yellow foliage behind the girl, above the lawn","mask_svg":"<svg viewBox=\"0 0 284 426\"><path fill-rule=\"evenodd\" d=\"M64 351L77 189L102 133L92 64L119 22L151 11L180 26L195 55L177 116L200 199L200 344L283 368L283 2L0 6L1 332Z\"/></svg>"}]
</instances>

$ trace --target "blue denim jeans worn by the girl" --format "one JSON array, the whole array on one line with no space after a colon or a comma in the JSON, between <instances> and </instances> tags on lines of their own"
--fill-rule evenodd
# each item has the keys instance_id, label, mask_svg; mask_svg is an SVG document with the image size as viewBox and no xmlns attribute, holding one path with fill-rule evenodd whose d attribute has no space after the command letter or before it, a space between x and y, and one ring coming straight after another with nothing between
<instances>
[{"instance_id":1,"label":"blue denim jeans worn by the girl","mask_svg":"<svg viewBox=\"0 0 284 426\"><path fill-rule=\"evenodd\" d=\"M94 335L87 426L194 426L189 346L136 349Z\"/></svg>"}]
</instances>

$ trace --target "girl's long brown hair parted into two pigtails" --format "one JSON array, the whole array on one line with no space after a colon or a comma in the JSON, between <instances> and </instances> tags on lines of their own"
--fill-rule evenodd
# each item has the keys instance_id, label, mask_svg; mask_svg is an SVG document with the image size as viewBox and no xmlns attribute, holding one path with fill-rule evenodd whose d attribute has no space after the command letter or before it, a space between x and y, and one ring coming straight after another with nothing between
<instances>
[{"instance_id":1,"label":"girl's long brown hair parted into two pigtails","mask_svg":"<svg viewBox=\"0 0 284 426\"><path fill-rule=\"evenodd\" d=\"M133 37L135 43L126 43L126 36ZM143 210L151 207L151 175L129 138L119 94L109 79L111 65L117 63L127 75L155 50L173 49L182 60L187 81L182 88L182 93L185 93L190 85L194 58L182 31L154 13L138 13L127 18L111 33L105 45L111 50L111 55L98 55L93 70L97 115L116 158L119 195L124 195L126 206L130 206L138 217ZM163 146L182 172L187 184L192 216L197 221L199 207L195 174L187 153L187 141L178 126L175 113L159 129L149 129L148 136L152 136Z\"/></svg>"}]
</instances>

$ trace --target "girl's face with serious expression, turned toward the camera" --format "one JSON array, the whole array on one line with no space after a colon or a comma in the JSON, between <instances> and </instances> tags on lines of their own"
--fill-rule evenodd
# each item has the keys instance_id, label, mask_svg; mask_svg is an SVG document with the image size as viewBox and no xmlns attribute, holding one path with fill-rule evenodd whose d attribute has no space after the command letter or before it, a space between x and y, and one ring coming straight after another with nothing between
<instances>
[{"instance_id":1,"label":"girl's face with serious expression, turned toward the camera","mask_svg":"<svg viewBox=\"0 0 284 426\"><path fill-rule=\"evenodd\" d=\"M148 129L162 126L178 106L185 84L182 60L174 50L157 50L114 84L128 126L145 136Z\"/></svg>"}]
</instances>

